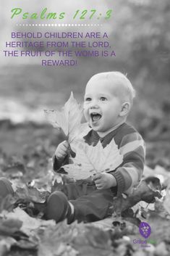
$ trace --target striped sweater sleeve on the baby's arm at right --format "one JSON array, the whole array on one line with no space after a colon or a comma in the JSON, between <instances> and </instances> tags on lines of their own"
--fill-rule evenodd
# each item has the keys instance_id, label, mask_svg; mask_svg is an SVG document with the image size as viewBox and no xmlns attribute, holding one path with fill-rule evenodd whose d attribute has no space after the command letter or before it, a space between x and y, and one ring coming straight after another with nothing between
<instances>
[{"instance_id":1,"label":"striped sweater sleeve on the baby's arm at right","mask_svg":"<svg viewBox=\"0 0 170 256\"><path fill-rule=\"evenodd\" d=\"M145 142L139 133L130 133L122 138L119 150L123 155L122 165L111 172L116 178L117 195L123 192L128 194L139 183L145 165Z\"/></svg>"}]
</instances>

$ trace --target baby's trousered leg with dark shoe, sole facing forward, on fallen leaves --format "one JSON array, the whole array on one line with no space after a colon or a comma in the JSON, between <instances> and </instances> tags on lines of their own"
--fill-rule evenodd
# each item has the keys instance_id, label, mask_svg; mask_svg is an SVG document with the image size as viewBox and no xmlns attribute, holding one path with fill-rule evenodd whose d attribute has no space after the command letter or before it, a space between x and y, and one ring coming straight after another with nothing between
<instances>
[{"instance_id":1,"label":"baby's trousered leg with dark shoe, sole facing forward, on fallen leaves","mask_svg":"<svg viewBox=\"0 0 170 256\"><path fill-rule=\"evenodd\" d=\"M55 191L48 197L46 218L58 223L67 218L68 223L74 220L92 222L111 215L114 193L110 189L95 190L90 194L68 200L64 193Z\"/></svg>"}]
</instances>

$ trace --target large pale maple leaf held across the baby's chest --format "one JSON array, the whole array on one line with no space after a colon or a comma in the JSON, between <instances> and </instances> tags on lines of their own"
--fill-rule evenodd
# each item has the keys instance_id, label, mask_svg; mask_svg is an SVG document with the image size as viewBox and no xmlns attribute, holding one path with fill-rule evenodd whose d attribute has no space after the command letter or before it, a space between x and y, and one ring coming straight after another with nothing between
<instances>
[{"instance_id":1,"label":"large pale maple leaf held across the baby's chest","mask_svg":"<svg viewBox=\"0 0 170 256\"><path fill-rule=\"evenodd\" d=\"M85 179L98 172L109 172L117 168L123 160L114 141L103 148L101 141L96 146L89 146L80 141L76 146L76 157L71 157L73 164L62 166L70 178Z\"/></svg>"}]
</instances>

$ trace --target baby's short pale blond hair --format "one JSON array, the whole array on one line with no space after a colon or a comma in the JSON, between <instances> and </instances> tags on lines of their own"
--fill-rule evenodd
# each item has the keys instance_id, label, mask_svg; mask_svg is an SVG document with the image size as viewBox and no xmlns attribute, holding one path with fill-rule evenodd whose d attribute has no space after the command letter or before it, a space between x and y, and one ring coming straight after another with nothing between
<instances>
[{"instance_id":1,"label":"baby's short pale blond hair","mask_svg":"<svg viewBox=\"0 0 170 256\"><path fill-rule=\"evenodd\" d=\"M129 101L132 107L133 99L135 98L135 89L126 75L118 71L104 72L93 75L90 81L96 78L109 80L111 84L115 84L116 80L116 86L118 87L116 94L119 94L123 101Z\"/></svg>"}]
</instances>

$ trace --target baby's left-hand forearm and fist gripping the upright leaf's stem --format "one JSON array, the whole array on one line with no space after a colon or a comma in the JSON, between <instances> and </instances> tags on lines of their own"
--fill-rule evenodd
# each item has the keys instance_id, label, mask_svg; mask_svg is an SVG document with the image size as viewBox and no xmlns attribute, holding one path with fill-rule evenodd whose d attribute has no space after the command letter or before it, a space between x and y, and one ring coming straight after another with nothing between
<instances>
[{"instance_id":1,"label":"baby's left-hand forearm and fist gripping the upright leaf's stem","mask_svg":"<svg viewBox=\"0 0 170 256\"><path fill-rule=\"evenodd\" d=\"M56 148L56 152L53 157L53 169L59 170L62 165L66 165L69 163L69 143L68 141L62 141Z\"/></svg>"}]
</instances>

